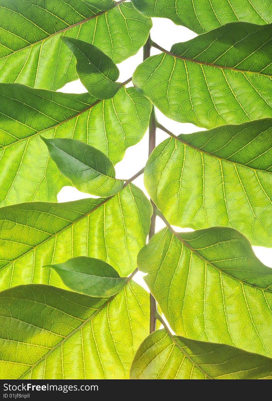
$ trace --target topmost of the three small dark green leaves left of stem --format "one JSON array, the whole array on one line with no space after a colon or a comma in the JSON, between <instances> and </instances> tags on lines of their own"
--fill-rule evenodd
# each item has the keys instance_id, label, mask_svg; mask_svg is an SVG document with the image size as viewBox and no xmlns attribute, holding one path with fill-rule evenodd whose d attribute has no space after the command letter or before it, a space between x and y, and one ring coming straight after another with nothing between
<instances>
[{"instance_id":1,"label":"topmost of the three small dark green leaves left of stem","mask_svg":"<svg viewBox=\"0 0 272 401\"><path fill-rule=\"evenodd\" d=\"M96 46L78 39L62 37L77 59L77 74L87 91L97 99L110 99L120 88L115 82L119 70L110 59Z\"/></svg>"}]
</instances>

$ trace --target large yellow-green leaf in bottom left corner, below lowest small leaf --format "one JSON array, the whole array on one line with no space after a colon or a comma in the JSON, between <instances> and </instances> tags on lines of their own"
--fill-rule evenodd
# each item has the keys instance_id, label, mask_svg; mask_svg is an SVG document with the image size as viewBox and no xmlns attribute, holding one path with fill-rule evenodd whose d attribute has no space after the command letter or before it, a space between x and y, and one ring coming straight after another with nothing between
<instances>
[{"instance_id":1,"label":"large yellow-green leaf in bottom left corner, below lowest small leaf","mask_svg":"<svg viewBox=\"0 0 272 401\"><path fill-rule=\"evenodd\" d=\"M19 286L0 293L0 314L1 379L128 379L149 327L133 282L109 300Z\"/></svg>"}]
</instances>

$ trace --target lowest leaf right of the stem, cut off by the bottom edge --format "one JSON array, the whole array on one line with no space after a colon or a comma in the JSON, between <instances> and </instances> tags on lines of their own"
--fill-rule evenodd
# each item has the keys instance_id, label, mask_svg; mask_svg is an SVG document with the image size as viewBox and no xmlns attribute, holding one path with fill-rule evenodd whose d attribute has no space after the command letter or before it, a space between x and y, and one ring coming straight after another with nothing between
<instances>
[{"instance_id":1,"label":"lowest leaf right of the stem, cut off by the bottom edge","mask_svg":"<svg viewBox=\"0 0 272 401\"><path fill-rule=\"evenodd\" d=\"M272 379L272 359L229 345L150 334L136 352L131 379Z\"/></svg>"}]
</instances>

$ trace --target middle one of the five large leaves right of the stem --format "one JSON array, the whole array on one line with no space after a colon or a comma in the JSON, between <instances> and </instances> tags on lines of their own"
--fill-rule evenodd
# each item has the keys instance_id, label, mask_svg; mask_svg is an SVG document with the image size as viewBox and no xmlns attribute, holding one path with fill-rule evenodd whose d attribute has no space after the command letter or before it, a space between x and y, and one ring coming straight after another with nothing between
<instances>
[{"instance_id":1,"label":"middle one of the five large leaves right of the stem","mask_svg":"<svg viewBox=\"0 0 272 401\"><path fill-rule=\"evenodd\" d=\"M144 182L171 224L225 225L272 247L271 166L272 119L260 119L165 140Z\"/></svg>"}]
</instances>

